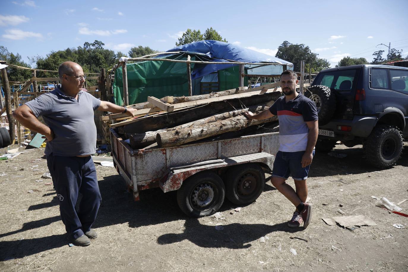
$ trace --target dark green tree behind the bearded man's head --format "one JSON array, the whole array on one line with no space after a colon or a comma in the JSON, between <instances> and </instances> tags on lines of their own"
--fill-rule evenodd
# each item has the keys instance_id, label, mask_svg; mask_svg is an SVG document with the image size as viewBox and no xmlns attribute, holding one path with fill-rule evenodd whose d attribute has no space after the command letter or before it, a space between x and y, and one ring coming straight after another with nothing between
<instances>
[{"instance_id":1,"label":"dark green tree behind the bearded man's head","mask_svg":"<svg viewBox=\"0 0 408 272\"><path fill-rule=\"evenodd\" d=\"M312 53L309 46L284 41L279 45L275 57L292 62L294 71L300 71L300 61L304 60L305 72L308 73L312 69L312 73L315 73L330 67L330 63L326 59L318 58L318 55Z\"/></svg>"}]
</instances>

